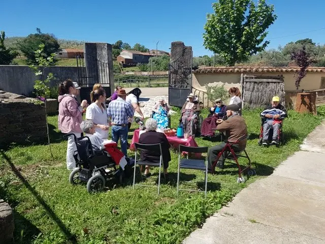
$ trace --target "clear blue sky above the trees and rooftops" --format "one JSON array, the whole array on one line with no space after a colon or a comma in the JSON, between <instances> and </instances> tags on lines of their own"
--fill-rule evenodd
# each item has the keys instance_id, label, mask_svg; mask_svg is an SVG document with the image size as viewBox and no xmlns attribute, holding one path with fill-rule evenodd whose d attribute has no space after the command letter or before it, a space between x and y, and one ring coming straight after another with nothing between
<instances>
[{"instance_id":1,"label":"clear blue sky above the trees and rooftops","mask_svg":"<svg viewBox=\"0 0 325 244\"><path fill-rule=\"evenodd\" d=\"M39 27L43 33L53 33L60 39L107 43L122 40L131 45L138 42L149 49L156 48L159 41L158 49L167 51L171 42L183 41L198 56L211 54L203 47L202 34L213 2L7 0L2 3L0 30L7 37L26 36ZM275 6L278 16L269 28L268 48L304 38L325 43L325 1L269 0L268 3Z\"/></svg>"}]
</instances>

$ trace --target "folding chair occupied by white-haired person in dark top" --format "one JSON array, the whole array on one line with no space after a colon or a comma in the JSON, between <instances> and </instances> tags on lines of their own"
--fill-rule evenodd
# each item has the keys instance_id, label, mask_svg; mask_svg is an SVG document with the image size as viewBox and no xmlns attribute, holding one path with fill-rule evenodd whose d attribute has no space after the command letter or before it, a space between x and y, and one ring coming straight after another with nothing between
<instances>
[{"instance_id":1,"label":"folding chair occupied by white-haired person in dark top","mask_svg":"<svg viewBox=\"0 0 325 244\"><path fill-rule=\"evenodd\" d=\"M158 195L159 195L159 190L160 190L160 175L161 175L161 164L163 163L163 153L161 151L161 144L140 144L140 143L135 143L135 164L134 164L134 177L133 177L133 189L135 187L135 185L138 186L144 186L144 187L156 187L156 186L149 186L149 185L141 185L141 184L135 184L136 183L136 167L137 165L148 165L148 166L152 166L152 167L159 167L159 176L158 176ZM160 154L160 159L159 161L142 161L141 159L139 161L137 161L138 158L138 150L148 150L148 151L152 151L155 153L159 153ZM140 171L141 173L141 171Z\"/></svg>"}]
</instances>

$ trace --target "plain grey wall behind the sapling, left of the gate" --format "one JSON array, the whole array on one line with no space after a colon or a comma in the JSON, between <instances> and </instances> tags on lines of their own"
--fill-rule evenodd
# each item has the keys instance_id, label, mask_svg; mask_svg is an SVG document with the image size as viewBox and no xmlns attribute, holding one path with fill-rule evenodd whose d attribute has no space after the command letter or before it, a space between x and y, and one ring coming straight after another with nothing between
<instances>
[{"instance_id":1,"label":"plain grey wall behind the sapling, left of the gate","mask_svg":"<svg viewBox=\"0 0 325 244\"><path fill-rule=\"evenodd\" d=\"M79 67L79 69L81 69ZM80 72L80 71L79 71ZM65 79L78 82L77 67L50 66L45 69L45 75L53 73L56 78L51 85L57 85ZM10 93L28 96L34 89L37 77L28 66L0 65L0 89Z\"/></svg>"}]
</instances>

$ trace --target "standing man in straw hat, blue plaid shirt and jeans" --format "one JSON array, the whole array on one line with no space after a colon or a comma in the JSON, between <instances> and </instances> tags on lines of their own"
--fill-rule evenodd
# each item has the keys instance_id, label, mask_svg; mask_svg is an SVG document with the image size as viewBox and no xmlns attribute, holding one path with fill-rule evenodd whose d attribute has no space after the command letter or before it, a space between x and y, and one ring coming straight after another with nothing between
<instances>
[{"instance_id":1,"label":"standing man in straw hat, blue plaid shirt and jeans","mask_svg":"<svg viewBox=\"0 0 325 244\"><path fill-rule=\"evenodd\" d=\"M121 139L121 151L126 157L128 117L133 117L134 109L130 103L125 101L127 94L124 89L118 90L116 95L117 99L108 105L107 114L112 121L112 140L117 143Z\"/></svg>"}]
</instances>

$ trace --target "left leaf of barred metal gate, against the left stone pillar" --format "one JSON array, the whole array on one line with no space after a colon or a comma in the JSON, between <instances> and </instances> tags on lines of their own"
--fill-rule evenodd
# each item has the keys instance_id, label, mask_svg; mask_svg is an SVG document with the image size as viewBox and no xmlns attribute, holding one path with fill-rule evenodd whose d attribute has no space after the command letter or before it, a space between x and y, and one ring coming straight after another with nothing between
<instances>
[{"instance_id":1,"label":"left leaf of barred metal gate, against the left stone pillar","mask_svg":"<svg viewBox=\"0 0 325 244\"><path fill-rule=\"evenodd\" d=\"M81 87L92 87L95 83L109 86L109 64L87 53L77 56L78 83Z\"/></svg>"}]
</instances>

